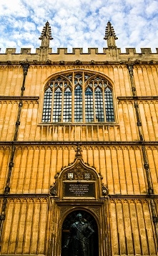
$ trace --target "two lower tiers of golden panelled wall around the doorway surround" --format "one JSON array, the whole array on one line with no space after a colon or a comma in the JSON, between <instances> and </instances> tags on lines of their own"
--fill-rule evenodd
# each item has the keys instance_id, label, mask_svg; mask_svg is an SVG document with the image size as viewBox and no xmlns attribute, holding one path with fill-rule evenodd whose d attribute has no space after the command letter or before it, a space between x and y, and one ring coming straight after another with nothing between
<instances>
[{"instance_id":1,"label":"two lower tiers of golden panelled wall around the doorway surround","mask_svg":"<svg viewBox=\"0 0 158 256\"><path fill-rule=\"evenodd\" d=\"M6 152L9 155L9 148ZM48 193L54 174L73 162L75 147L23 146L16 148L11 175L1 254L40 254L49 252L49 205L47 198L25 197ZM2 150L1 150L2 151ZM147 178L140 147L84 146L84 162L89 162L104 177L109 195L113 255L156 255L156 240L150 200L137 198L147 194ZM158 147L147 147L154 193L157 194ZM4 190L8 157L2 153L1 193ZM3 186L2 186L3 184ZM21 195L24 194L24 197ZM129 198L126 199L126 196ZM10 195L11 197L11 195ZM122 198L123 197L123 198ZM125 198L124 198L125 197ZM137 199L135 199L136 197ZM157 203L157 200L156 200ZM50 211L50 210L49 210ZM106 215L106 213L104 213Z\"/></svg>"}]
</instances>

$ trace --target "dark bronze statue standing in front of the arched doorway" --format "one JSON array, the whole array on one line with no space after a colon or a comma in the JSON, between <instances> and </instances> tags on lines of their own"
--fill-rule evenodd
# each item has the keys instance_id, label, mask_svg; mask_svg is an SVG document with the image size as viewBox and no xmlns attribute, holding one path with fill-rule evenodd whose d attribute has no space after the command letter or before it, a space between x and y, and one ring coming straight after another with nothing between
<instances>
[{"instance_id":1,"label":"dark bronze statue standing in front of the arched doorway","mask_svg":"<svg viewBox=\"0 0 158 256\"><path fill-rule=\"evenodd\" d=\"M76 215L69 230L69 237L64 248L69 250L69 256L89 256L89 237L94 233L89 222L84 220L82 214Z\"/></svg>"}]
</instances>

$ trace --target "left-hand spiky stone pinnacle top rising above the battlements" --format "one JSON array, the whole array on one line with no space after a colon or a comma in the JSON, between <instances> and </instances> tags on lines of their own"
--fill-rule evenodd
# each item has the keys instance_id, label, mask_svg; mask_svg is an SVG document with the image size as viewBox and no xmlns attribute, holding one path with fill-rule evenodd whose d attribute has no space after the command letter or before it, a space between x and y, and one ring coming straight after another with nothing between
<instances>
[{"instance_id":1,"label":"left-hand spiky stone pinnacle top rising above the battlements","mask_svg":"<svg viewBox=\"0 0 158 256\"><path fill-rule=\"evenodd\" d=\"M49 26L49 21L46 21L39 39L41 40L42 48L49 48L49 41L53 39L53 37L51 37L51 26Z\"/></svg>"}]
</instances>

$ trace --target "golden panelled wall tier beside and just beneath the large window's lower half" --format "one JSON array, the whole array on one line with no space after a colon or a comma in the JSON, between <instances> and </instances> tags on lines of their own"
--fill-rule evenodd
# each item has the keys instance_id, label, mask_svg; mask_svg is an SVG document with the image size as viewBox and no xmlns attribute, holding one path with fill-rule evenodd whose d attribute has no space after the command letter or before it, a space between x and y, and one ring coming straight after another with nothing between
<instances>
[{"instance_id":1,"label":"golden panelled wall tier beside and just beneath the large window's lower half","mask_svg":"<svg viewBox=\"0 0 158 256\"><path fill-rule=\"evenodd\" d=\"M1 100L1 141L13 139L19 102ZM142 117L144 139L158 141L158 101L140 100L139 109ZM120 100L115 111L117 124L62 124L47 125L38 122L39 104L35 100L24 100L19 127L19 141L137 141L139 140L135 122L134 104L132 100ZM38 117L39 116L39 117Z\"/></svg>"}]
</instances>

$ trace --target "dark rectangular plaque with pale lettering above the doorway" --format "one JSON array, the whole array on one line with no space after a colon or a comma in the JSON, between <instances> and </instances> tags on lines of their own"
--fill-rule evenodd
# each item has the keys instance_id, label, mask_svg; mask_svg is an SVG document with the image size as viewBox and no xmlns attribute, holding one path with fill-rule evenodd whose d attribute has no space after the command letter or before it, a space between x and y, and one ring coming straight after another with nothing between
<instances>
[{"instance_id":1,"label":"dark rectangular plaque with pale lettering above the doorway","mask_svg":"<svg viewBox=\"0 0 158 256\"><path fill-rule=\"evenodd\" d=\"M65 182L64 197L95 197L95 184L94 182Z\"/></svg>"}]
</instances>

